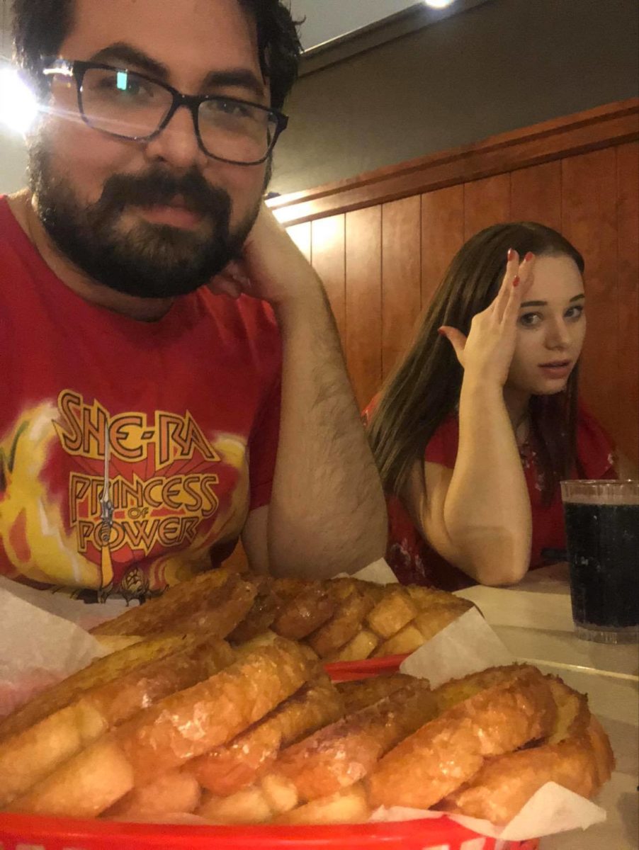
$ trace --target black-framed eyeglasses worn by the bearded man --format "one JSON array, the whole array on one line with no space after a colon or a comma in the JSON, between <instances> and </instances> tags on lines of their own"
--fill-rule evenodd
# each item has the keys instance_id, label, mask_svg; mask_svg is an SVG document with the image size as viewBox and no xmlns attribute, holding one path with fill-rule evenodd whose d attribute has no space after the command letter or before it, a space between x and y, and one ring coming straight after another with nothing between
<instances>
[{"instance_id":1,"label":"black-framed eyeglasses worn by the bearded man","mask_svg":"<svg viewBox=\"0 0 639 850\"><path fill-rule=\"evenodd\" d=\"M117 139L148 142L185 106L206 156L234 165L268 159L288 117L282 112L217 94L182 94L164 82L95 62L45 60L42 73L73 77L82 120Z\"/></svg>"}]
</instances>

